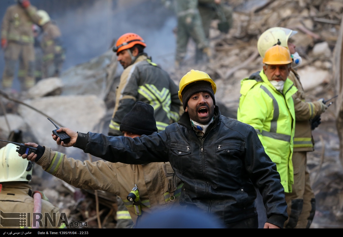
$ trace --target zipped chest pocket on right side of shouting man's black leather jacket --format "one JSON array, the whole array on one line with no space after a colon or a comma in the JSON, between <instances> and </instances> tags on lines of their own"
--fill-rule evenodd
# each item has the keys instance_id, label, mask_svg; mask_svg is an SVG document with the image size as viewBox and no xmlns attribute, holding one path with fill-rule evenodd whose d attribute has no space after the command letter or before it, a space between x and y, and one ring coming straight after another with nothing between
<instances>
[{"instance_id":1,"label":"zipped chest pocket on right side of shouting man's black leather jacket","mask_svg":"<svg viewBox=\"0 0 343 237\"><path fill-rule=\"evenodd\" d=\"M218 169L231 172L242 164L241 155L244 151L243 144L228 143L215 146L216 166Z\"/></svg>"}]
</instances>

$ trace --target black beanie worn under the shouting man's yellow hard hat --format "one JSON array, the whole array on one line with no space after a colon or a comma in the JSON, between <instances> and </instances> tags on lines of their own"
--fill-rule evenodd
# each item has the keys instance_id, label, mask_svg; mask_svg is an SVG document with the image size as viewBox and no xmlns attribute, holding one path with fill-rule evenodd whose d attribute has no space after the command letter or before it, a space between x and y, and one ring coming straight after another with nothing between
<instances>
[{"instance_id":1,"label":"black beanie worn under the shouting man's yellow hard hat","mask_svg":"<svg viewBox=\"0 0 343 237\"><path fill-rule=\"evenodd\" d=\"M184 110L186 110L189 98L191 98L193 94L199 92L208 92L215 105L214 92L211 83L200 80L187 85L185 89L182 90L182 104L184 105Z\"/></svg>"}]
</instances>

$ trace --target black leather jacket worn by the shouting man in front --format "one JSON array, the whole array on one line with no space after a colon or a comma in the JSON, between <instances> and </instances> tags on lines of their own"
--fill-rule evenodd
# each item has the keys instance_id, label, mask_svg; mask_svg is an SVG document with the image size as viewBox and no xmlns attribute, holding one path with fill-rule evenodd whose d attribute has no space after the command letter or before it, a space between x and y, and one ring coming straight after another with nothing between
<instances>
[{"instance_id":1,"label":"black leather jacket worn by the shouting man in front","mask_svg":"<svg viewBox=\"0 0 343 237\"><path fill-rule=\"evenodd\" d=\"M74 145L110 162L169 161L184 182L180 204L202 209L223 224L257 215L254 185L267 210L267 222L283 227L284 189L276 165L264 152L255 129L220 114L199 139L188 113L159 133L137 138L79 133Z\"/></svg>"}]
</instances>

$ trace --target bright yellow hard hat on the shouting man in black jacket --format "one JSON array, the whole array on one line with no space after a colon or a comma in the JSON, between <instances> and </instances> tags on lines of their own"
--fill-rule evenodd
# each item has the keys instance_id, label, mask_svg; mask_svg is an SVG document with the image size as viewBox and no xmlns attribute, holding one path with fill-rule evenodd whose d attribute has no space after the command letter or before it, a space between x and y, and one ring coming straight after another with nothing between
<instances>
[{"instance_id":1,"label":"bright yellow hard hat on the shouting man in black jacket","mask_svg":"<svg viewBox=\"0 0 343 237\"><path fill-rule=\"evenodd\" d=\"M192 82L197 82L199 80L204 80L206 82L211 83L213 93L215 94L215 92L217 90L217 86L213 82L211 77L207 73L192 69L185 76L183 76L180 80L180 83L179 83L179 99L181 100L181 102L182 102L182 90L185 89L185 87L187 85L191 84Z\"/></svg>"}]
</instances>

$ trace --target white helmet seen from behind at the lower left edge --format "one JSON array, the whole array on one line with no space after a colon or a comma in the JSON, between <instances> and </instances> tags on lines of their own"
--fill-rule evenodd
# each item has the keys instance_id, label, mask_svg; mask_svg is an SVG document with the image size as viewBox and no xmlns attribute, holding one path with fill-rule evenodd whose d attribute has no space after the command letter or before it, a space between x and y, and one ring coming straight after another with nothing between
<instances>
[{"instance_id":1,"label":"white helmet seen from behind at the lower left edge","mask_svg":"<svg viewBox=\"0 0 343 237\"><path fill-rule=\"evenodd\" d=\"M32 178L32 162L21 158L16 150L12 143L0 149L0 183Z\"/></svg>"}]
</instances>

